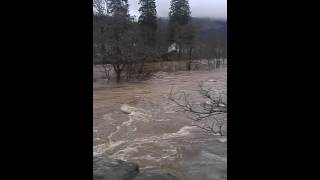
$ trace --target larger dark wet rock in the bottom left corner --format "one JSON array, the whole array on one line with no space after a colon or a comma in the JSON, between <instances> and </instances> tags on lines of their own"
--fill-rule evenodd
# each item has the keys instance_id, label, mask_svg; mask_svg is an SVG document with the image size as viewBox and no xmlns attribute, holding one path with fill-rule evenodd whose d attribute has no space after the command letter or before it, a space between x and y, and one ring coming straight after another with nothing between
<instances>
[{"instance_id":1,"label":"larger dark wet rock in the bottom left corner","mask_svg":"<svg viewBox=\"0 0 320 180\"><path fill-rule=\"evenodd\" d=\"M139 173L139 166L105 156L93 157L93 180L131 180Z\"/></svg>"}]
</instances>

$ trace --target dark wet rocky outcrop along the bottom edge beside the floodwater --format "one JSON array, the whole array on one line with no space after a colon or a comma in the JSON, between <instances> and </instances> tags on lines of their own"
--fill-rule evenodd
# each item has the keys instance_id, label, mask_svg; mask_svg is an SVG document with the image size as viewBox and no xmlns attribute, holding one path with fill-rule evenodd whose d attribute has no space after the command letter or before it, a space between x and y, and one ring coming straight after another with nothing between
<instances>
[{"instance_id":1,"label":"dark wet rocky outcrop along the bottom edge beside the floodwater","mask_svg":"<svg viewBox=\"0 0 320 180\"><path fill-rule=\"evenodd\" d=\"M93 180L179 180L169 173L143 172L131 162L111 159L106 156L93 157Z\"/></svg>"}]
</instances>

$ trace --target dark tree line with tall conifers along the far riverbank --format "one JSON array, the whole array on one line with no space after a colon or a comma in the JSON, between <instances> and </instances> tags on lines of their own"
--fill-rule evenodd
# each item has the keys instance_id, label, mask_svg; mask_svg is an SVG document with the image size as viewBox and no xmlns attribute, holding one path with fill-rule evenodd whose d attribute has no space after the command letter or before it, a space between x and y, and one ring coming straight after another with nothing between
<instances>
[{"instance_id":1,"label":"dark tree line with tall conifers along the far riverbank","mask_svg":"<svg viewBox=\"0 0 320 180\"><path fill-rule=\"evenodd\" d=\"M120 80L124 70L143 73L147 62L226 58L226 37L203 35L188 0L171 0L169 18L158 18L155 0L139 1L138 19L128 0L93 0L93 64L110 65ZM168 47L172 46L171 51Z\"/></svg>"}]
</instances>

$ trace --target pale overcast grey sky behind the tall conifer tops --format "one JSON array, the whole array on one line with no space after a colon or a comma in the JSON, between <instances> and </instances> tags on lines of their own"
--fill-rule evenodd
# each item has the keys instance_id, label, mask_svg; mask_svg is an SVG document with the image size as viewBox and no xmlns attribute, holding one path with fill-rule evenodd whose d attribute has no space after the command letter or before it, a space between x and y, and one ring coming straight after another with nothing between
<instances>
[{"instance_id":1,"label":"pale overcast grey sky behind the tall conifer tops","mask_svg":"<svg viewBox=\"0 0 320 180\"><path fill-rule=\"evenodd\" d=\"M130 14L139 16L139 0L129 0ZM157 13L167 17L170 0L156 0ZM191 16L227 19L227 0L189 0Z\"/></svg>"}]
</instances>

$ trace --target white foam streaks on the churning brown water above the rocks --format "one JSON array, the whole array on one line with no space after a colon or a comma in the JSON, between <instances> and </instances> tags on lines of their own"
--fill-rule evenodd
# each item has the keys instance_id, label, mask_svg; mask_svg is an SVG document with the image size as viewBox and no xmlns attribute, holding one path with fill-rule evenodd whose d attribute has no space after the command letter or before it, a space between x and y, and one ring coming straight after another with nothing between
<instances>
[{"instance_id":1,"label":"white foam streaks on the churning brown water above the rocks","mask_svg":"<svg viewBox=\"0 0 320 180\"><path fill-rule=\"evenodd\" d=\"M173 143L170 143L171 138L184 137L189 136L191 131L195 128L194 126L183 126L177 132L174 133L165 133L158 136L144 137L144 138L136 138L132 141L113 141L112 137L117 134L122 127L131 127L132 123L136 121L149 122L152 120L152 114L147 112L144 109L135 108L129 105L122 105L121 111L128 114L129 120L122 122L121 125L116 127L116 130L109 134L107 144L99 144L93 147L94 155L100 155L105 153L106 151L111 151L112 158L128 160L136 158L136 159L144 159L148 161L160 162L163 159L174 160L177 154L176 146ZM103 115L105 120L113 120L111 114ZM170 121L170 119L159 119L155 121ZM130 129L129 129L130 130ZM136 131L136 127L131 128L132 131ZM128 143L124 148L113 152L115 147L120 146L123 143ZM140 156L140 157L132 157L134 153L137 153L140 149L148 148L149 145L144 144L154 144L155 148L159 148L162 150L161 155L159 154L151 154Z\"/></svg>"}]
</instances>

